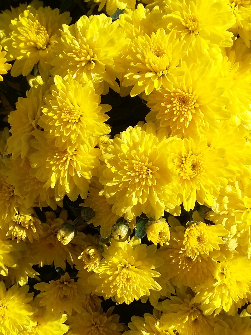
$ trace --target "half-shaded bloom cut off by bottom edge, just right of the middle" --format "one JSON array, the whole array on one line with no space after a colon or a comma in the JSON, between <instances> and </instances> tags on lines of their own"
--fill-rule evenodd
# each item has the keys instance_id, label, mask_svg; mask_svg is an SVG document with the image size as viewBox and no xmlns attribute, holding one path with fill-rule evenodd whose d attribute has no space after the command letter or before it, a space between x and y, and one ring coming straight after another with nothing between
<instances>
[{"instance_id":1,"label":"half-shaded bloom cut off by bottom edge, just right of the middle","mask_svg":"<svg viewBox=\"0 0 251 335\"><path fill-rule=\"evenodd\" d=\"M153 315L145 313L144 318L133 316L132 322L128 324L131 330L123 333L123 335L174 335L174 327L164 322L164 316L156 309L153 310ZM171 323L170 323L171 325Z\"/></svg>"}]
</instances>

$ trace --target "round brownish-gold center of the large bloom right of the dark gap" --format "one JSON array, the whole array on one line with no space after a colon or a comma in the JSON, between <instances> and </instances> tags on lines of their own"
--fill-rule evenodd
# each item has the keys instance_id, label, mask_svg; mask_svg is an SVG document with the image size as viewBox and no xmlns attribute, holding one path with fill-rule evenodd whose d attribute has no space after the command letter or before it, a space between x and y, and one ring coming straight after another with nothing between
<instances>
[{"instance_id":1,"label":"round brownish-gold center of the large bloom right of the dark gap","mask_svg":"<svg viewBox=\"0 0 251 335\"><path fill-rule=\"evenodd\" d=\"M181 91L180 89L177 89L175 92L172 92L171 95L173 96L171 98L173 102L173 112L176 115L184 114L187 116L190 113L194 113L195 107L198 107L199 105L196 103L196 99L198 98L197 95L195 95L196 92L192 94L192 90L189 89L188 91Z\"/></svg>"}]
</instances>

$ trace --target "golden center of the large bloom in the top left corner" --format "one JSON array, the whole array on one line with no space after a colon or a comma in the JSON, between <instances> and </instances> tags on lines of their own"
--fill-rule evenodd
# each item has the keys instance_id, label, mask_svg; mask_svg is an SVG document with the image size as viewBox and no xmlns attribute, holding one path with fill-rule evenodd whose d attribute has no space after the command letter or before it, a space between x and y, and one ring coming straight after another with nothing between
<instances>
[{"instance_id":1,"label":"golden center of the large bloom in the top left corner","mask_svg":"<svg viewBox=\"0 0 251 335\"><path fill-rule=\"evenodd\" d=\"M28 29L30 42L28 44L35 46L37 49L46 49L49 45L50 38L46 28L38 20L30 22Z\"/></svg>"}]
</instances>

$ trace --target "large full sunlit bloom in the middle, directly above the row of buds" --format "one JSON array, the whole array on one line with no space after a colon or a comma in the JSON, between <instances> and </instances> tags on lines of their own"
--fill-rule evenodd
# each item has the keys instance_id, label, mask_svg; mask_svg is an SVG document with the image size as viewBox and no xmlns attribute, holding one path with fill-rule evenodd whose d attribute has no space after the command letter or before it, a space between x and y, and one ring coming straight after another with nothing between
<instances>
[{"instance_id":1,"label":"large full sunlit bloom in the middle, directly above the row of buds","mask_svg":"<svg viewBox=\"0 0 251 335\"><path fill-rule=\"evenodd\" d=\"M171 163L172 139L152 123L128 127L102 146L107 168L99 181L100 195L112 204L112 211L130 221L142 212L159 218L164 209L179 215L180 186Z\"/></svg>"}]
</instances>

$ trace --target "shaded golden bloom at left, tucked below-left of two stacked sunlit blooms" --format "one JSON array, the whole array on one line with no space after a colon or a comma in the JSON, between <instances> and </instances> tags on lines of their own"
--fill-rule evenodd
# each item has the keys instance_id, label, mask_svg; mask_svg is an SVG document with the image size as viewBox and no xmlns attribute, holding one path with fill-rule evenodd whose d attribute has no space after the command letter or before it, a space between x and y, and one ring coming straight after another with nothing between
<instances>
[{"instance_id":1,"label":"shaded golden bloom at left, tucked below-left of two stacked sunlit blooms","mask_svg":"<svg viewBox=\"0 0 251 335\"><path fill-rule=\"evenodd\" d=\"M32 169L30 161L27 157L23 159L18 156L13 159L5 159L4 163L6 169L6 181L13 185L15 194L23 197L26 208L29 207L46 207L50 206L52 209L63 206L61 201L56 201L54 198L54 190L49 187L46 189L46 183L36 178L36 170ZM18 171L18 173L16 173ZM31 241L32 242L32 241Z\"/></svg>"}]
</instances>

